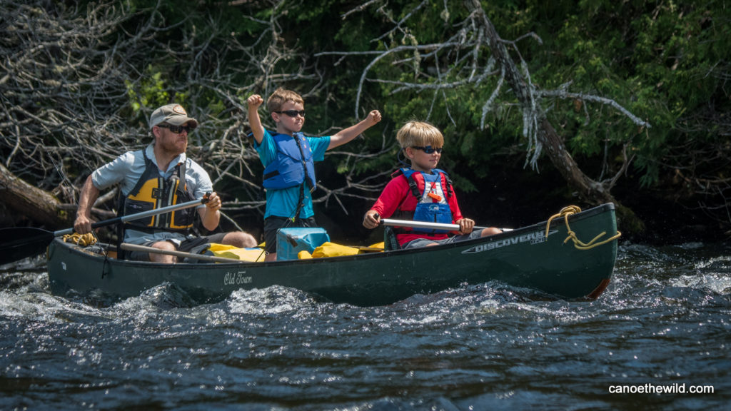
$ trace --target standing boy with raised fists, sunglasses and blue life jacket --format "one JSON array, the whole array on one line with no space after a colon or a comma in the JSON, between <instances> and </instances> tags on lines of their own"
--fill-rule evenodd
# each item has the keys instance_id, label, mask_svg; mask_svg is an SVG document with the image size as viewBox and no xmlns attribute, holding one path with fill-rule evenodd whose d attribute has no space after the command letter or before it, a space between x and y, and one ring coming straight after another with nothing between
<instances>
[{"instance_id":1,"label":"standing boy with raised fists, sunglasses and blue life jacket","mask_svg":"<svg viewBox=\"0 0 731 411\"><path fill-rule=\"evenodd\" d=\"M325 151L348 143L376 123L381 113L373 110L360 123L327 137L305 137L300 132L305 123L305 102L294 91L278 88L267 100L267 108L276 124L271 134L262 126L259 107L264 99L258 94L246 99L249 126L254 148L264 165L262 184L267 192L264 214L266 261L276 260L276 233L283 227L317 227L311 193L317 185L314 162L325 158Z\"/></svg>"}]
</instances>

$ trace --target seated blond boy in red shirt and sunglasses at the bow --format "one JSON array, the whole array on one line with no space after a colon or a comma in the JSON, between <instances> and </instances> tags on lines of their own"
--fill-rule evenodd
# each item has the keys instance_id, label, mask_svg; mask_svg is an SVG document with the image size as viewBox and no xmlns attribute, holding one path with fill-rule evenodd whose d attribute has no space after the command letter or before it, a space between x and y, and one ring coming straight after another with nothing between
<instances>
[{"instance_id":1,"label":"seated blond boy in red shirt and sunglasses at the bow","mask_svg":"<svg viewBox=\"0 0 731 411\"><path fill-rule=\"evenodd\" d=\"M502 232L496 227L473 231L474 221L462 216L452 181L447 173L436 168L444 147L444 136L439 129L424 121L409 121L398 130L396 140L412 166L392 174L393 178L374 206L363 216L364 227L376 228L382 217L391 216L460 227L458 235L452 237L444 230L396 227L396 240L404 249L436 246Z\"/></svg>"}]
</instances>

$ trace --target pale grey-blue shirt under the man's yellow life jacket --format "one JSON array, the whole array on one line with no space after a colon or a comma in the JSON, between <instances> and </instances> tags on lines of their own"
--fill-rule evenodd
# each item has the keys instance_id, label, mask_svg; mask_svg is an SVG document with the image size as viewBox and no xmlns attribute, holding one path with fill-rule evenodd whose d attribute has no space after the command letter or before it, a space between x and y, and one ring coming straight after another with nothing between
<instances>
[{"instance_id":1,"label":"pale grey-blue shirt under the man's yellow life jacket","mask_svg":"<svg viewBox=\"0 0 731 411\"><path fill-rule=\"evenodd\" d=\"M145 153L157 165L152 144L145 148ZM206 192L213 191L211 177L208 176L208 173L197 162L187 158L185 153L173 159L170 165L167 166L167 171L164 173L161 171L160 176L169 178L173 175L175 166L182 162L186 162L186 184L188 184L196 198L202 198ZM127 195L135 188L137 181L142 177L144 172L145 158L143 157L142 151L127 151L112 162L108 162L94 170L94 173L91 174L91 181L94 182L94 186L100 191L114 184L119 184L119 189L122 194ZM197 208L204 207L204 205L200 205ZM185 238L185 235L181 233L170 233L167 231L143 233L128 228L124 233L124 241L129 244L144 244L148 241L164 240L173 240L173 242L178 243L178 241L182 241Z\"/></svg>"}]
</instances>

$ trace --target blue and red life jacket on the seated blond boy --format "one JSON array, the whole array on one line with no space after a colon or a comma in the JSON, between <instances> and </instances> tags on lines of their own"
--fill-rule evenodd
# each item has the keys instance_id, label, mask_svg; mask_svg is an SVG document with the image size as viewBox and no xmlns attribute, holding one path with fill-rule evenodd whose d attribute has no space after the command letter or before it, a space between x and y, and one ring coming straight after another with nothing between
<instances>
[{"instance_id":1,"label":"blue and red life jacket on the seated blond boy","mask_svg":"<svg viewBox=\"0 0 731 411\"><path fill-rule=\"evenodd\" d=\"M399 172L409 181L409 187L416 200L416 207L414 209L409 209L409 206L401 208L401 206L404 206L403 203L401 204L398 210L400 218L452 224L452 210L447 200L453 195L452 181L447 173L444 173L444 170L439 170L439 168L431 170L432 174L439 176L434 183L427 182L424 173L417 172L412 168L401 168L395 174L398 175ZM444 189L447 191L446 194L444 193ZM449 233L449 230L433 230L429 228L414 228L412 231L431 234Z\"/></svg>"}]
</instances>

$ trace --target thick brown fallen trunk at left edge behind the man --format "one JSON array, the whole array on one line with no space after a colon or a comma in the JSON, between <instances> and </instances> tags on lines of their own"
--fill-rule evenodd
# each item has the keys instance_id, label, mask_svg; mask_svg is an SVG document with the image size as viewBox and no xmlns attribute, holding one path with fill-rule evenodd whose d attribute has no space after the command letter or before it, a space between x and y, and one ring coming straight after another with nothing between
<instances>
[{"instance_id":1,"label":"thick brown fallen trunk at left edge behind the man","mask_svg":"<svg viewBox=\"0 0 731 411\"><path fill-rule=\"evenodd\" d=\"M1 201L25 219L49 228L72 225L73 213L61 208L61 203L48 192L31 186L0 164Z\"/></svg>"}]
</instances>

